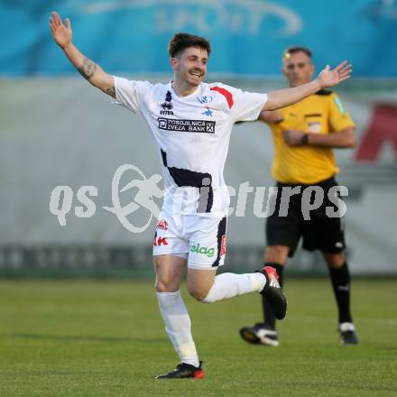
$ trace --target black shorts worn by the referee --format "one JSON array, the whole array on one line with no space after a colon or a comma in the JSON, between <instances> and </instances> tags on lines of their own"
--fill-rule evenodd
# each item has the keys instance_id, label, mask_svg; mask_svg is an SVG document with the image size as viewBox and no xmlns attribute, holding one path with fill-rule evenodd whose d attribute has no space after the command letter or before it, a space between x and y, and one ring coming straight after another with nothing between
<instances>
[{"instance_id":1,"label":"black shorts worn by the referee","mask_svg":"<svg viewBox=\"0 0 397 397\"><path fill-rule=\"evenodd\" d=\"M288 214L280 217L280 204L282 188L295 188L301 186L300 193L291 196ZM324 190L324 200L318 209L309 212L310 219L303 217L302 192L309 186L319 186ZM277 182L277 198L275 210L266 221L267 245L286 245L290 247L289 256L293 256L300 241L303 238L302 247L308 251L319 249L320 251L337 254L342 252L345 245L344 219L343 217L328 217L326 208L337 206L328 199L328 190L337 186L334 177L320 181L315 185L288 185ZM338 196L340 199L340 196ZM313 198L312 198L313 199Z\"/></svg>"}]
</instances>

